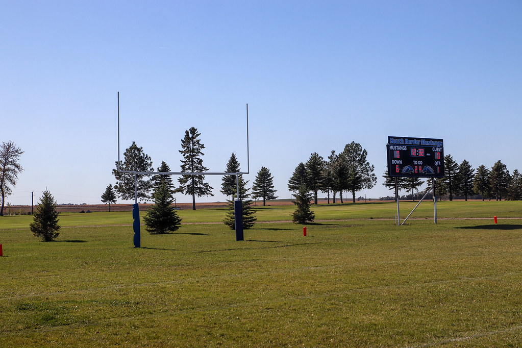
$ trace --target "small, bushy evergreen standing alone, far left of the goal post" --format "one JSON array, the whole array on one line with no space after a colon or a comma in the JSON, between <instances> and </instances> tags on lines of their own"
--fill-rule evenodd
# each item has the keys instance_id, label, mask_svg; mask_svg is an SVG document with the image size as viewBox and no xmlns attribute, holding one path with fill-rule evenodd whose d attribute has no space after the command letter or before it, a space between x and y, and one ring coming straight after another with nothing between
<instances>
[{"instance_id":1,"label":"small, bushy evergreen standing alone, far left of the goal post","mask_svg":"<svg viewBox=\"0 0 522 348\"><path fill-rule=\"evenodd\" d=\"M34 212L33 222L29 228L35 237L42 237L43 242L54 241L60 233L58 225L58 213L56 211L56 201L48 190L43 191L36 211Z\"/></svg>"}]
</instances>

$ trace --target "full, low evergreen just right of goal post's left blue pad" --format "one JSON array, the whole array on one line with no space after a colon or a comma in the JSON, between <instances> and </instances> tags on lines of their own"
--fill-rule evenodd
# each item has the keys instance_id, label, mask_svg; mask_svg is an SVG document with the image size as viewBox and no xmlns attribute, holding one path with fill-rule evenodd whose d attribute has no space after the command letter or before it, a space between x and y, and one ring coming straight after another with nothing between
<instances>
[{"instance_id":1,"label":"full, low evergreen just right of goal post's left blue pad","mask_svg":"<svg viewBox=\"0 0 522 348\"><path fill-rule=\"evenodd\" d=\"M143 218L150 234L165 234L177 231L181 226L181 218L172 206L172 191L166 182L162 183L152 195L152 205Z\"/></svg>"}]
</instances>

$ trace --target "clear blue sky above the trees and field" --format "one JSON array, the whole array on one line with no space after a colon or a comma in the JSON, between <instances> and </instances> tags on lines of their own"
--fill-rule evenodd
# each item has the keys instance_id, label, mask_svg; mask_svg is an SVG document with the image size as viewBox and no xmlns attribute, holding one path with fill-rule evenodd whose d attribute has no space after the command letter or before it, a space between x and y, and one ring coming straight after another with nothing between
<instances>
[{"instance_id":1,"label":"clear blue sky above the trees and field","mask_svg":"<svg viewBox=\"0 0 522 348\"><path fill-rule=\"evenodd\" d=\"M100 203L132 141L180 171L196 127L204 164L232 152L280 198L295 166L351 141L382 186L388 136L444 139L473 168L522 170L522 2L0 1L0 141L25 153L11 204L48 188ZM224 201L220 177L207 177ZM176 194L178 202L190 201ZM118 202L123 202L118 200Z\"/></svg>"}]
</instances>

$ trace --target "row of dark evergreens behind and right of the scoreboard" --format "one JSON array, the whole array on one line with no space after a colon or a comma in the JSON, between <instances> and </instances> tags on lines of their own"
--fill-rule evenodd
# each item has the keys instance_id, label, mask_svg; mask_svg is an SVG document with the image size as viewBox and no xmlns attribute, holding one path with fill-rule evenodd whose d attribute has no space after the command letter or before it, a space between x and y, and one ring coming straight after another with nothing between
<instances>
[{"instance_id":1,"label":"row of dark evergreens behind and right of the scoreboard","mask_svg":"<svg viewBox=\"0 0 522 348\"><path fill-rule=\"evenodd\" d=\"M389 189L395 189L395 178L390 177L388 172L383 175L383 185ZM431 180L426 181L428 188L432 186ZM410 192L413 200L415 199L416 190L424 184L420 178L400 177L397 178L399 189ZM495 162L493 166L488 168L480 165L477 169L473 169L467 160L463 160L458 164L453 156L447 154L444 156L444 177L435 179L435 195L446 196L449 200L453 200L455 196L464 197L468 200L473 195L480 195L482 200L520 200L522 199L522 175L515 169L513 174L509 174L507 166L500 160Z\"/></svg>"}]
</instances>

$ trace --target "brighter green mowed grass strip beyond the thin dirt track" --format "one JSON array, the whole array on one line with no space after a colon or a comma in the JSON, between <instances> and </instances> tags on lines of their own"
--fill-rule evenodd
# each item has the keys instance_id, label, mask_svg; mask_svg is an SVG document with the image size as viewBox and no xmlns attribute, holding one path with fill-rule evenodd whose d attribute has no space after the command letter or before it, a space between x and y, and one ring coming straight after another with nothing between
<instances>
[{"instance_id":1,"label":"brighter green mowed grass strip beyond the thin dirt track","mask_svg":"<svg viewBox=\"0 0 522 348\"><path fill-rule=\"evenodd\" d=\"M407 217L418 202L401 201L401 220ZM256 218L259 222L289 221L295 207L257 205ZM316 220L346 220L346 219L395 219L397 203L372 201L367 203L321 204L312 206ZM226 208L179 210L177 213L184 223L222 222ZM143 217L145 211L141 211ZM521 201L440 201L437 202L438 218L502 218L522 217ZM433 201L423 201L411 216L412 219L433 219ZM103 213L62 213L60 225L71 226L101 226L101 225L131 225L131 212ZM32 221L30 215L9 216L0 219L2 229L27 229Z\"/></svg>"}]
</instances>

